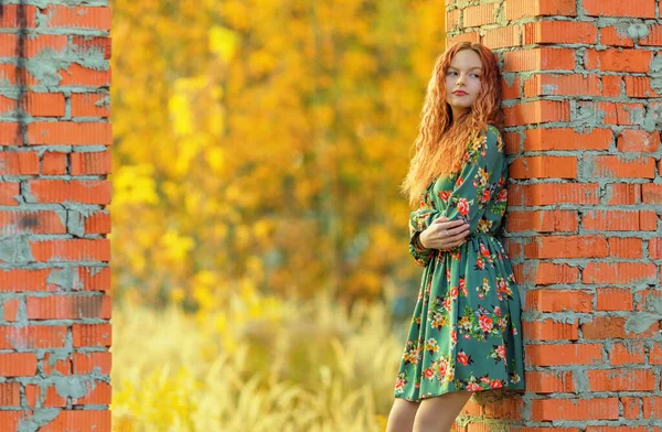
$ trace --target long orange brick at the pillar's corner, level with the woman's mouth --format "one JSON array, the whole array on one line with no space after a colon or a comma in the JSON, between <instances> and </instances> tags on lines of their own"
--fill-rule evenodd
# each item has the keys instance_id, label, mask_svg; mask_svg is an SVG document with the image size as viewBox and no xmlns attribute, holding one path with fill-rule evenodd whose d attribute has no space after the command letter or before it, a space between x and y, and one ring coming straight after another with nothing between
<instances>
[{"instance_id":1,"label":"long orange brick at the pillar's corner, level with the woman's mouth","mask_svg":"<svg viewBox=\"0 0 662 432\"><path fill-rule=\"evenodd\" d=\"M524 96L599 96L600 79L595 75L535 74L524 83Z\"/></svg>"}]
</instances>

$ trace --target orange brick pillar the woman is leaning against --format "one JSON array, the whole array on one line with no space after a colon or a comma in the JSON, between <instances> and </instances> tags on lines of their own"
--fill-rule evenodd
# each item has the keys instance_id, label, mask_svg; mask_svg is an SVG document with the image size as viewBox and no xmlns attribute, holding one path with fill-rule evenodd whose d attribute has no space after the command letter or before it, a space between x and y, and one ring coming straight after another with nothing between
<instances>
[{"instance_id":1,"label":"orange brick pillar the woman is leaning against","mask_svg":"<svg viewBox=\"0 0 662 432\"><path fill-rule=\"evenodd\" d=\"M501 58L525 299L526 393L458 431L661 430L660 23L655 0L447 1L449 43Z\"/></svg>"}]
</instances>

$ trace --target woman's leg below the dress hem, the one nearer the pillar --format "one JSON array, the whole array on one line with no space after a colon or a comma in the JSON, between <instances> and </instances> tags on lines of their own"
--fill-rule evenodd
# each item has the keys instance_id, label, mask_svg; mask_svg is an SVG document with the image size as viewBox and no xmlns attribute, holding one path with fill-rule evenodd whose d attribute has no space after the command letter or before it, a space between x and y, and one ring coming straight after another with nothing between
<instances>
[{"instance_id":1,"label":"woman's leg below the dress hem, the one nearer the pillar","mask_svg":"<svg viewBox=\"0 0 662 432\"><path fill-rule=\"evenodd\" d=\"M471 391L460 391L421 400L414 432L449 432L471 395Z\"/></svg>"}]
</instances>

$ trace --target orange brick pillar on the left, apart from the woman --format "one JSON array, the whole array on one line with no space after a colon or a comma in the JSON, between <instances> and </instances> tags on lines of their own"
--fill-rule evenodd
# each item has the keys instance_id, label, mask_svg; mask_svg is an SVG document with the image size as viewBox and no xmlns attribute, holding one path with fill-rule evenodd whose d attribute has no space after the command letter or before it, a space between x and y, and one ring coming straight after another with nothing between
<instances>
[{"instance_id":1,"label":"orange brick pillar on the left, apart from the woman","mask_svg":"<svg viewBox=\"0 0 662 432\"><path fill-rule=\"evenodd\" d=\"M110 10L8 3L0 1L0 430L110 431Z\"/></svg>"}]
</instances>

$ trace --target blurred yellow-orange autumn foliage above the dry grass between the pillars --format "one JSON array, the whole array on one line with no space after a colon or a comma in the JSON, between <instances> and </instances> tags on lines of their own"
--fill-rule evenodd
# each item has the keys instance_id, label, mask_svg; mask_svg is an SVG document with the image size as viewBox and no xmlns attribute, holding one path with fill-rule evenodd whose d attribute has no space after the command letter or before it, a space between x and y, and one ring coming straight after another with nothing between
<instances>
[{"instance_id":1,"label":"blurred yellow-orange autumn foliage above the dry grass between the pillars","mask_svg":"<svg viewBox=\"0 0 662 432\"><path fill-rule=\"evenodd\" d=\"M436 0L113 0L119 295L374 299L410 284L406 199ZM416 284L416 283L415 283Z\"/></svg>"}]
</instances>

